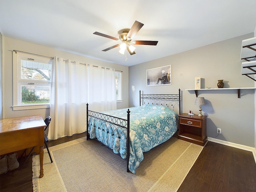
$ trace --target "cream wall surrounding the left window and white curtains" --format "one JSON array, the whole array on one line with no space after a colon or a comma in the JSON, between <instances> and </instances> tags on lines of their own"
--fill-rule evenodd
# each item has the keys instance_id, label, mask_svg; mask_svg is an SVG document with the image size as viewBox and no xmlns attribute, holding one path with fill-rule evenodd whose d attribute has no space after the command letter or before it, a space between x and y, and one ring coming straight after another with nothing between
<instances>
[{"instance_id":1,"label":"cream wall surrounding the left window and white curtains","mask_svg":"<svg viewBox=\"0 0 256 192\"><path fill-rule=\"evenodd\" d=\"M16 116L28 116L34 114L40 114L43 118L49 115L49 109L37 109L37 110L12 110L12 50L19 50L29 52L33 54L39 54L44 56L58 56L64 59L70 59L71 61L80 61L86 64L93 64L97 66L115 68L115 70L123 71L123 102L118 103L118 108L128 107L128 67L104 62L85 56L71 54L68 52L60 51L57 49L33 44L17 40L14 38L3 37L3 118L16 117Z\"/></svg>"}]
</instances>

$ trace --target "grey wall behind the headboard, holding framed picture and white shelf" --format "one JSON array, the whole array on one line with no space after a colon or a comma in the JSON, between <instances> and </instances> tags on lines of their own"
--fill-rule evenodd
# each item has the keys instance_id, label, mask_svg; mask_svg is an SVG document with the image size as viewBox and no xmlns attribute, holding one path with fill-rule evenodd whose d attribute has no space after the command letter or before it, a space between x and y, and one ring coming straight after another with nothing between
<instances>
[{"instance_id":1,"label":"grey wall behind the headboard, holding framed picture and white shelf","mask_svg":"<svg viewBox=\"0 0 256 192\"><path fill-rule=\"evenodd\" d=\"M185 90L194 89L198 76L203 80L202 88L217 88L218 79L224 79L226 88L254 87L253 80L241 75L240 62L242 40L253 36L246 34L129 67L129 106L139 105L139 90L144 94L171 94L180 88L182 112L193 110L198 114L194 91ZM165 65L172 65L172 85L147 87L146 70ZM221 128L217 139L255 147L254 94L254 89L241 90L241 98L236 90L199 91L198 96L207 102L202 106L202 113L208 116L207 136L213 138Z\"/></svg>"}]
</instances>

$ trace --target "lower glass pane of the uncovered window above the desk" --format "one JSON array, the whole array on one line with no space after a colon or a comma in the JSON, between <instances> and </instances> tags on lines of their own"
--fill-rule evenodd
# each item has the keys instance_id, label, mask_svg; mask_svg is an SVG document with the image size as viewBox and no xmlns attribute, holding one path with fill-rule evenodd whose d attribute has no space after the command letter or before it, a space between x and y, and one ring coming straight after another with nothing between
<instances>
[{"instance_id":1,"label":"lower glass pane of the uncovered window above the desk","mask_svg":"<svg viewBox=\"0 0 256 192\"><path fill-rule=\"evenodd\" d=\"M50 102L50 85L21 85L22 104Z\"/></svg>"}]
</instances>

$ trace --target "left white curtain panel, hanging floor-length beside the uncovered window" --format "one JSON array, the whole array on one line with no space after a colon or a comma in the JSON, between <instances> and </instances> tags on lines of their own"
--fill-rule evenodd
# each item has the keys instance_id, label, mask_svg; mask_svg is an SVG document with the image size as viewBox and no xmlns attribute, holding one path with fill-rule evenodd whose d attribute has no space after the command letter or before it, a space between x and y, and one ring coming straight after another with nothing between
<instances>
[{"instance_id":1,"label":"left white curtain panel, hanging floor-length beside the uncovered window","mask_svg":"<svg viewBox=\"0 0 256 192\"><path fill-rule=\"evenodd\" d=\"M57 139L86 130L87 67L55 57L48 138Z\"/></svg>"}]
</instances>

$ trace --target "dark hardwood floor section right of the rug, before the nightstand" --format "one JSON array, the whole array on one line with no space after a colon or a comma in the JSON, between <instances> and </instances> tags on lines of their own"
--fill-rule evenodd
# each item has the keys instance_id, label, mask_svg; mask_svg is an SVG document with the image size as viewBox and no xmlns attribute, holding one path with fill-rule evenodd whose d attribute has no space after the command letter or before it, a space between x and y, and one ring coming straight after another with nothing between
<instances>
[{"instance_id":1,"label":"dark hardwood floor section right of the rug, before the nightstand","mask_svg":"<svg viewBox=\"0 0 256 192\"><path fill-rule=\"evenodd\" d=\"M252 152L208 142L178 192L256 192Z\"/></svg>"}]
</instances>

